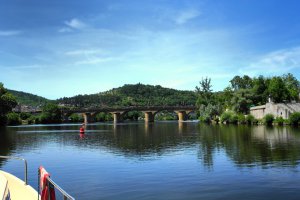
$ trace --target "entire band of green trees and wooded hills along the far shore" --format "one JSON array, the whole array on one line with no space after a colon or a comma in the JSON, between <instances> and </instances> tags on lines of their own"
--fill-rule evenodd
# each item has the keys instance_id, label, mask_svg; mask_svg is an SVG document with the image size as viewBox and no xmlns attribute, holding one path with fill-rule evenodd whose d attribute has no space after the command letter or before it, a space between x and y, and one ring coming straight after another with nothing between
<instances>
[{"instance_id":1,"label":"entire band of green trees and wooded hills along the far shore","mask_svg":"<svg viewBox=\"0 0 300 200\"><path fill-rule=\"evenodd\" d=\"M288 73L273 77L235 76L229 81L227 87L217 92L213 92L211 79L206 77L202 78L199 85L195 87L195 91L180 91L163 88L159 85L138 83L135 85L126 84L97 94L64 97L52 102L37 96L30 99L30 95L21 93L27 98L27 101L42 101L44 103L42 113L34 116L28 113L11 112L12 108L20 103L20 97L14 97L4 88L3 84L0 84L0 123L2 125L19 124L21 120L28 123L60 123L63 119L62 109L164 105L196 105L197 118L203 122L253 123L258 122L258 120L249 115L252 106L264 105L268 98L271 98L275 103L298 102L299 92L299 81L294 75ZM142 117L143 114L137 111L129 112L125 116L129 120L138 120ZM296 121L295 124L297 124L298 117L293 117ZM83 120L82 116L78 114L72 114L68 119L72 122ZM157 115L157 119L174 120L176 116L165 112ZM280 124L287 123L283 119L275 119L274 116L273 119L272 116L268 116L268 119L265 119L268 123L274 120ZM110 121L112 116L107 113L99 113L96 115L96 120ZM300 121L300 117L298 121Z\"/></svg>"}]
</instances>

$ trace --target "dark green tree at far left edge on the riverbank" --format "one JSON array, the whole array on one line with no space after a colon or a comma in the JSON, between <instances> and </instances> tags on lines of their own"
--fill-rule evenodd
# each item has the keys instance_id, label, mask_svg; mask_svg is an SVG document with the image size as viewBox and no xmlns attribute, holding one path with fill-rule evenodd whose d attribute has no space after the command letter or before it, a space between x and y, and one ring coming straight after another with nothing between
<instances>
[{"instance_id":1,"label":"dark green tree at far left edge on the riverbank","mask_svg":"<svg viewBox=\"0 0 300 200\"><path fill-rule=\"evenodd\" d=\"M7 92L3 84L0 83L0 125L5 125L7 122L7 113L17 105L16 98Z\"/></svg>"}]
</instances>

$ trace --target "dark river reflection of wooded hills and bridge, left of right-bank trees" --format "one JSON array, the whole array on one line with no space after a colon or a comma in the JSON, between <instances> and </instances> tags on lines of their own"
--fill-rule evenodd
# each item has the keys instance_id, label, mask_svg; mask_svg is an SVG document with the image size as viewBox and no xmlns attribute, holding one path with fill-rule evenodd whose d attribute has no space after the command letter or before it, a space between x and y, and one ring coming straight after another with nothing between
<instances>
[{"instance_id":1,"label":"dark river reflection of wooded hills and bridge, left of right-bank trees","mask_svg":"<svg viewBox=\"0 0 300 200\"><path fill-rule=\"evenodd\" d=\"M58 143L84 149L105 147L111 149L111 152L134 157L153 153L159 156L167 151L190 146L191 143L195 143L196 127L196 125L189 126L187 123L179 125L176 122L89 125L83 139L79 136L79 125L16 127L10 128L10 131L13 132L18 152L43 148L49 143ZM187 135L193 137L185 137Z\"/></svg>"}]
</instances>

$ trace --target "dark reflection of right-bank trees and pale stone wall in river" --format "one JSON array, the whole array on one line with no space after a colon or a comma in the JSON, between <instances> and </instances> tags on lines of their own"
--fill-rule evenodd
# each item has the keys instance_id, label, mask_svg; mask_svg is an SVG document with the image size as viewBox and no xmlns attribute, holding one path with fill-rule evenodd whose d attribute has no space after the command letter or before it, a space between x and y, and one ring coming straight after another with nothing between
<instances>
[{"instance_id":1,"label":"dark reflection of right-bank trees and pale stone wall in river","mask_svg":"<svg viewBox=\"0 0 300 200\"><path fill-rule=\"evenodd\" d=\"M199 157L213 165L213 154L223 148L239 166L295 166L300 160L297 129L265 126L200 126Z\"/></svg>"}]
</instances>

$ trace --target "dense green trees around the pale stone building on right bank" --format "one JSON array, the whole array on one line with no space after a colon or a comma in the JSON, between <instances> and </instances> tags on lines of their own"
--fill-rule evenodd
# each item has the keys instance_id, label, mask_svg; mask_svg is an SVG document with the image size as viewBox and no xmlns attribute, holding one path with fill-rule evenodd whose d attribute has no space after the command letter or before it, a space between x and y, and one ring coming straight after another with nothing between
<instances>
[{"instance_id":1,"label":"dense green trees around the pale stone building on right bank","mask_svg":"<svg viewBox=\"0 0 300 200\"><path fill-rule=\"evenodd\" d=\"M252 106L264 105L269 98L275 103L298 102L299 92L300 83L290 73L273 77L235 76L230 85L219 92L212 92L211 79L203 78L196 86L196 105L199 119L205 122L258 122L249 115Z\"/></svg>"}]
</instances>

